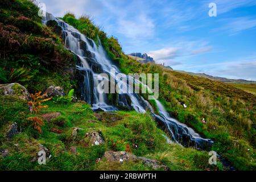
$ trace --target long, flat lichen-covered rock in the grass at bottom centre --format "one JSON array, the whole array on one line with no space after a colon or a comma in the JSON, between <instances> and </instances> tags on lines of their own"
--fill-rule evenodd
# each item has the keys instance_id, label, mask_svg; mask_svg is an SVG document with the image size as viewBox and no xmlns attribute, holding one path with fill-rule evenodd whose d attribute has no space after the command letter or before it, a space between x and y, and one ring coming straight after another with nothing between
<instances>
[{"instance_id":1,"label":"long, flat lichen-covered rock in the grass at bottom centre","mask_svg":"<svg viewBox=\"0 0 256 182\"><path fill-rule=\"evenodd\" d=\"M145 166L151 167L155 170L158 169L164 169L165 171L168 170L168 167L160 163L158 160L155 159L149 159L149 158L143 158L143 157L137 157L134 154L131 154L129 152L121 151L121 152L114 152L114 151L107 151L104 154L104 158L108 162L125 162L128 160L131 161L142 161L142 163Z\"/></svg>"}]
</instances>

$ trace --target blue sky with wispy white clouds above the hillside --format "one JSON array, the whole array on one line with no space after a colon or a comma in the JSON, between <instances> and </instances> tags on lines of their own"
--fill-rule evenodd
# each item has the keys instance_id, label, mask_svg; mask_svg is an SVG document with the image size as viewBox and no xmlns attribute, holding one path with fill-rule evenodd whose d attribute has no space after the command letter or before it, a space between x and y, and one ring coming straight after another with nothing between
<instances>
[{"instance_id":1,"label":"blue sky with wispy white clouds above the hillside","mask_svg":"<svg viewBox=\"0 0 256 182\"><path fill-rule=\"evenodd\" d=\"M146 52L178 70L256 80L255 0L40 2L55 16L92 16L125 53ZM208 15L211 2L217 17Z\"/></svg>"}]
</instances>

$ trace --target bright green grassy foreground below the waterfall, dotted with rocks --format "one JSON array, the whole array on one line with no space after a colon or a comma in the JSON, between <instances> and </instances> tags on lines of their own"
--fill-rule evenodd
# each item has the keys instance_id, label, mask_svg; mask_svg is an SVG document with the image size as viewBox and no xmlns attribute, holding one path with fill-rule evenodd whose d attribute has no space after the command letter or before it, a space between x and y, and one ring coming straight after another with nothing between
<instances>
[{"instance_id":1,"label":"bright green grassy foreground below the waterfall, dotted with rocks","mask_svg":"<svg viewBox=\"0 0 256 182\"><path fill-rule=\"evenodd\" d=\"M7 103L7 105L3 104ZM10 107L10 104L13 104ZM124 151L127 145L137 144L138 148L131 150L135 155L147 156L158 159L172 170L203 170L210 168L207 152L182 148L177 144L167 144L162 130L156 127L155 122L149 114L138 114L135 111L118 111L116 121L110 122L111 115L100 113L101 121L98 121L89 105L77 102L69 104L55 104L53 101L46 103L49 107L42 113L58 111L61 115L50 122L45 121L42 127L43 134L35 131L30 122L26 121L28 108L23 101L15 101L11 97L0 97L0 143L1 148L8 148L10 155L0 158L0 169L2 170L98 170L98 169L126 169L126 170L148 170L140 162L108 163L105 160L96 163L105 151ZM10 110L11 108L11 110ZM19 113L15 117L10 117ZM40 115L38 114L38 115ZM3 135L7 126L12 122L18 122L22 127L19 133L11 140L6 140ZM57 125L64 122L64 126ZM72 138L74 127L83 130L78 131L77 137ZM61 134L51 131L57 128ZM91 146L88 131L101 131L105 143L102 146ZM18 148L14 144L18 143ZM51 160L47 159L47 165L40 166L37 161L31 162L39 151L39 143L51 151ZM77 155L69 151L71 146L77 147ZM220 166L221 167L221 166ZM214 169L214 168L212 168Z\"/></svg>"}]
</instances>

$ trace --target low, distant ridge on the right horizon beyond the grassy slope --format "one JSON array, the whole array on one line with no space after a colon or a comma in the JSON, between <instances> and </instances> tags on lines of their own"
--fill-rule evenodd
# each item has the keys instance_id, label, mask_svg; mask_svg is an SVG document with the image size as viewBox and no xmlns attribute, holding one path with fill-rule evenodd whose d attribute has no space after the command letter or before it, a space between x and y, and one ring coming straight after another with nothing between
<instances>
[{"instance_id":1,"label":"low, distant ridge on the right horizon beyond the grassy slope","mask_svg":"<svg viewBox=\"0 0 256 182\"><path fill-rule=\"evenodd\" d=\"M229 82L229 83L236 83L236 84L256 84L256 81L243 80L243 79L229 79L225 77L211 76L205 73L193 73L193 72L185 72L185 71L177 71L177 72L187 73L188 75L200 76L204 78L209 78L210 80L216 80L221 82Z\"/></svg>"}]
</instances>

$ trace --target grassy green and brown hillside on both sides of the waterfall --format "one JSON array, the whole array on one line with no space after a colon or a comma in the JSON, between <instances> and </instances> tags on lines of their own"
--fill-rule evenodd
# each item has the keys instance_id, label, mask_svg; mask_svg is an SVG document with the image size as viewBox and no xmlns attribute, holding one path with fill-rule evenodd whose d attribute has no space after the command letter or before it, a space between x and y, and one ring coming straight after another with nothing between
<instances>
[{"instance_id":1,"label":"grassy green and brown hillside on both sides of the waterfall","mask_svg":"<svg viewBox=\"0 0 256 182\"><path fill-rule=\"evenodd\" d=\"M94 112L90 103L81 101L80 71L75 69L81 58L65 48L57 24L52 21L48 27L44 26L37 16L38 8L27 0L1 1L0 6L0 81L1 84L18 82L25 87L14 84L13 95L6 96L2 89L6 85L1 85L1 170L228 169L220 160L217 166L210 166L208 151L170 142L170 135L157 127L148 112L131 109ZM126 75L159 73L159 99L172 117L204 138L214 140L210 150L228 159L235 168L256 169L254 94L162 65L139 63L125 55L118 39L94 26L88 16L77 19L67 13L61 19L92 39L96 46L102 44L108 57ZM24 90L43 94L49 86L60 86L63 90L61 94L52 94L51 99L46 99L46 95L39 98L36 102L39 106L33 107L38 111L31 111L29 98L20 99ZM142 96L147 100L147 94ZM108 99L118 107L114 94L109 94ZM148 102L158 113L156 103ZM202 123L202 118L207 123ZM11 137L10 126L16 127ZM37 162L36 154L42 148L47 151L46 165ZM134 160L110 160L111 152L117 155L129 152ZM158 168L152 165L156 163Z\"/></svg>"}]
</instances>

